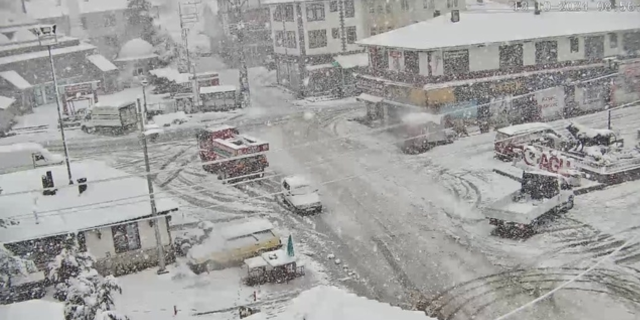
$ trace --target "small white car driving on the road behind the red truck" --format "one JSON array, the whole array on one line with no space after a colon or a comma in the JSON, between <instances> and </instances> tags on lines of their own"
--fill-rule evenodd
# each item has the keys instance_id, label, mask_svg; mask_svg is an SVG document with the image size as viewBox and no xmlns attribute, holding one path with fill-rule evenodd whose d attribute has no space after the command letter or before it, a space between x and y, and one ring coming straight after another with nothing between
<instances>
[{"instance_id":1,"label":"small white car driving on the road behind the red truck","mask_svg":"<svg viewBox=\"0 0 640 320\"><path fill-rule=\"evenodd\" d=\"M318 190L300 175L282 179L282 195L285 202L298 214L321 212L323 209Z\"/></svg>"}]
</instances>

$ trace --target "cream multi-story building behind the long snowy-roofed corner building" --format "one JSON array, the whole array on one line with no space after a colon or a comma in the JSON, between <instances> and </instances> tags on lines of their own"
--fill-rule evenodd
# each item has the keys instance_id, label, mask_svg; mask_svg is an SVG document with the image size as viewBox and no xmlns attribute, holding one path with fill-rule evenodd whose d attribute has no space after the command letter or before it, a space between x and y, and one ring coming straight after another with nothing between
<instances>
[{"instance_id":1,"label":"cream multi-story building behind the long snowy-roofed corner building","mask_svg":"<svg viewBox=\"0 0 640 320\"><path fill-rule=\"evenodd\" d=\"M271 12L278 83L300 96L353 93L352 69L368 65L358 39L465 6L464 0L269 0L265 4Z\"/></svg>"}]
</instances>

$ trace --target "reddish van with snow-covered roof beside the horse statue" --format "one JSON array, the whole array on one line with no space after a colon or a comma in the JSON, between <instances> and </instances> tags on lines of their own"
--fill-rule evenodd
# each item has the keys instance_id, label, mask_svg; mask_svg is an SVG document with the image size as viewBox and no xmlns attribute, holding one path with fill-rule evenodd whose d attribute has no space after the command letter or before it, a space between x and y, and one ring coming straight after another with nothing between
<instances>
[{"instance_id":1,"label":"reddish van with snow-covered roof beside the horse statue","mask_svg":"<svg viewBox=\"0 0 640 320\"><path fill-rule=\"evenodd\" d=\"M563 136L550 125L542 122L511 125L497 130L493 150L497 158L510 161L522 151L524 145L544 139L552 140L551 145L547 145L547 147L559 148L563 141Z\"/></svg>"}]
</instances>

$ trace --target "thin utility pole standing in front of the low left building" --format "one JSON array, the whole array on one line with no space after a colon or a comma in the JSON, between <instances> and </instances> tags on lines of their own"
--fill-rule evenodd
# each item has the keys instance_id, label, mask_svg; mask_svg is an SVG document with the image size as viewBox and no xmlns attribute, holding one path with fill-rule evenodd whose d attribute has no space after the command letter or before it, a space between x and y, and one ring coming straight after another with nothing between
<instances>
[{"instance_id":1,"label":"thin utility pole standing in front of the low left building","mask_svg":"<svg viewBox=\"0 0 640 320\"><path fill-rule=\"evenodd\" d=\"M145 86L147 86L148 82L143 80L142 88L145 90ZM143 92L144 94L144 92ZM147 99L145 98L145 101ZM147 109L147 106L144 107ZM159 219L157 218L157 208L156 208L156 196L154 195L154 184L151 179L151 168L149 166L149 154L147 149L147 134L145 134L145 121L142 118L142 104L140 103L140 98L138 98L138 112L136 112L136 116L138 118L138 122L140 123L140 140L142 143L142 151L145 155L145 170L147 171L147 188L149 191L149 203L151 205L151 221L154 223L154 233L156 234L156 243L158 247L158 275L162 275L163 273L168 273L166 270L166 262L164 261L164 246L162 244L162 237L160 235L160 226Z\"/></svg>"}]
</instances>

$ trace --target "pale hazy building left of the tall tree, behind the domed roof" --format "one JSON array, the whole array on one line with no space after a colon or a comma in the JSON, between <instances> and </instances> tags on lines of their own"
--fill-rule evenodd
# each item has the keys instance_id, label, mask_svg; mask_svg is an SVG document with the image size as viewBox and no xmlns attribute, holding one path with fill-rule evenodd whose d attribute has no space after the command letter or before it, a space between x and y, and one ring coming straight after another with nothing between
<instances>
[{"instance_id":1,"label":"pale hazy building left of the tall tree, behind the domed roof","mask_svg":"<svg viewBox=\"0 0 640 320\"><path fill-rule=\"evenodd\" d=\"M31 0L26 13L42 23L56 24L61 33L71 35L98 48L100 54L115 58L120 46L140 37L140 29L127 24L127 0ZM152 3L152 15L159 6Z\"/></svg>"}]
</instances>

